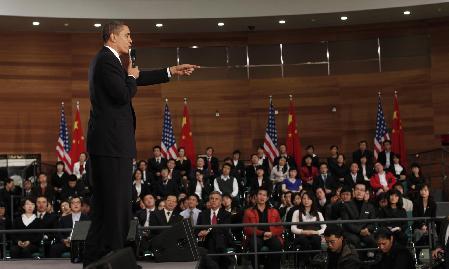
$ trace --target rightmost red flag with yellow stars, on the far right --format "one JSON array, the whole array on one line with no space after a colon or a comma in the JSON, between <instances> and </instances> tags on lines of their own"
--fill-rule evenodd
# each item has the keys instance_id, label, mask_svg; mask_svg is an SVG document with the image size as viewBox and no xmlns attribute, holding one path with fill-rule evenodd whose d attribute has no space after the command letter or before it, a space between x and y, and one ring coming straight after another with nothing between
<instances>
[{"instance_id":1,"label":"rightmost red flag with yellow stars, on the far right","mask_svg":"<svg viewBox=\"0 0 449 269\"><path fill-rule=\"evenodd\" d=\"M401 155L401 164L407 167L407 149L405 148L404 130L399 113L398 94L394 94L393 131L391 135L391 150Z\"/></svg>"}]
</instances>

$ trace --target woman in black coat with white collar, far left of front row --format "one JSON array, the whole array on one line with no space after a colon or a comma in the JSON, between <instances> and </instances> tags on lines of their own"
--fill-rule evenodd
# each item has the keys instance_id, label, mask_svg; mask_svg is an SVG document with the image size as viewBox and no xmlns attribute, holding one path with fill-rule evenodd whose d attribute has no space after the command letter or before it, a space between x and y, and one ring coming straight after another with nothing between
<instances>
[{"instance_id":1,"label":"woman in black coat with white collar, far left of front row","mask_svg":"<svg viewBox=\"0 0 449 269\"><path fill-rule=\"evenodd\" d=\"M32 230L41 227L40 220L33 213L35 204L31 199L25 198L21 201L23 214L14 220L13 228L18 230ZM34 252L39 250L42 235L38 233L18 233L11 236L11 257L31 258Z\"/></svg>"}]
</instances>

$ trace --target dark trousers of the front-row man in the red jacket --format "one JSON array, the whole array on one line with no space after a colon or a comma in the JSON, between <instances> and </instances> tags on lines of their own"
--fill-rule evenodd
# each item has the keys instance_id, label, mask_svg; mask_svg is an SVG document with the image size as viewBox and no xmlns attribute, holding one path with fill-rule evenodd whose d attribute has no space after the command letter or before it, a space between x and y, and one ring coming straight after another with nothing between
<instances>
[{"instance_id":1,"label":"dark trousers of the front-row man in the red jacket","mask_svg":"<svg viewBox=\"0 0 449 269\"><path fill-rule=\"evenodd\" d=\"M254 239L251 237L249 239L249 246L251 251L255 251L254 248ZM262 238L257 238L257 251L260 251L263 246L268 247L270 251L281 251L282 250L282 244L281 241L277 237L271 237L270 239L263 240ZM261 263L264 264L264 268L266 269L280 269L281 268L281 255L280 254L268 254L267 258L261 259L262 255L257 255L257 261L258 265ZM251 264L253 265L254 269L258 269L255 267L255 258L252 257Z\"/></svg>"}]
</instances>

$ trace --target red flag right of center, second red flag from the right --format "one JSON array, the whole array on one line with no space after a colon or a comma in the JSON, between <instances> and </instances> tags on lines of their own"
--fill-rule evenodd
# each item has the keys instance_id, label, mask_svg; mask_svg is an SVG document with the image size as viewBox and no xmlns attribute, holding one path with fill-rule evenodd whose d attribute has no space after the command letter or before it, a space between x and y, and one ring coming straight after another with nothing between
<instances>
[{"instance_id":1,"label":"red flag right of center, second red flag from the right","mask_svg":"<svg viewBox=\"0 0 449 269\"><path fill-rule=\"evenodd\" d=\"M296 161L296 166L301 167L301 141L299 140L298 127L296 125L296 112L293 98L290 95L290 108L288 109L288 124L287 124L287 154L293 156Z\"/></svg>"}]
</instances>

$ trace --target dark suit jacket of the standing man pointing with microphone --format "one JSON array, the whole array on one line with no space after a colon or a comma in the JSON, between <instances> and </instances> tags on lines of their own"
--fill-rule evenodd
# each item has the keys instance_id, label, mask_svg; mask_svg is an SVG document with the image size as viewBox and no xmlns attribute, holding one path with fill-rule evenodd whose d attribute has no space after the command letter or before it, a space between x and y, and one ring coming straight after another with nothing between
<instances>
[{"instance_id":1,"label":"dark suit jacket of the standing man pointing with microphone","mask_svg":"<svg viewBox=\"0 0 449 269\"><path fill-rule=\"evenodd\" d=\"M89 154L133 158L136 156L136 116L132 98L137 85L168 82L165 69L128 76L120 60L103 47L89 66L90 118L87 130Z\"/></svg>"}]
</instances>

